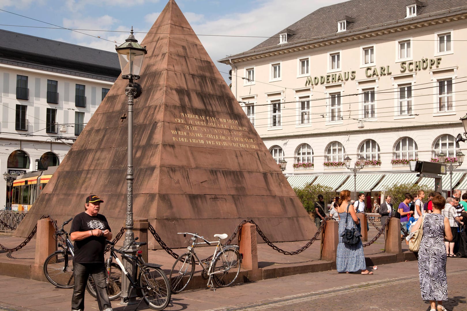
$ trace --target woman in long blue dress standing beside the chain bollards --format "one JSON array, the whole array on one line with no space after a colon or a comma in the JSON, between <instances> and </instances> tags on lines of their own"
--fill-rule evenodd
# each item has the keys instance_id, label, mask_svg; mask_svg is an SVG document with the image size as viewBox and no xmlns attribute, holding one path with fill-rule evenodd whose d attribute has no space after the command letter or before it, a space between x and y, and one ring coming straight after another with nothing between
<instances>
[{"instance_id":1,"label":"woman in long blue dress standing beside the chain bollards","mask_svg":"<svg viewBox=\"0 0 467 311\"><path fill-rule=\"evenodd\" d=\"M354 208L350 207L350 191L342 190L339 194L337 203L337 212L339 214L339 244L337 245L336 266L338 272L355 272L361 270L361 274L373 274L367 270L365 255L363 254L363 244L358 242L354 245L348 245L343 242L342 234L345 229L357 228L359 219L355 214ZM346 225L347 220L347 225Z\"/></svg>"}]
</instances>

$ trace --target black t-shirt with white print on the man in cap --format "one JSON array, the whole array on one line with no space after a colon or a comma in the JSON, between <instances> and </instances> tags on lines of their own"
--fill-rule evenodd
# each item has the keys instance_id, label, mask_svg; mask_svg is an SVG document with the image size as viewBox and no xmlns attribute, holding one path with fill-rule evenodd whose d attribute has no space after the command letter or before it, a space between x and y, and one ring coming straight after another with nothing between
<instances>
[{"instance_id":1,"label":"black t-shirt with white print on the man in cap","mask_svg":"<svg viewBox=\"0 0 467 311\"><path fill-rule=\"evenodd\" d=\"M91 216L86 212L79 213L71 223L70 233L75 231L89 231L92 229L110 230L106 216L97 214ZM103 263L106 248L105 236L90 236L81 241L75 241L75 263Z\"/></svg>"}]
</instances>

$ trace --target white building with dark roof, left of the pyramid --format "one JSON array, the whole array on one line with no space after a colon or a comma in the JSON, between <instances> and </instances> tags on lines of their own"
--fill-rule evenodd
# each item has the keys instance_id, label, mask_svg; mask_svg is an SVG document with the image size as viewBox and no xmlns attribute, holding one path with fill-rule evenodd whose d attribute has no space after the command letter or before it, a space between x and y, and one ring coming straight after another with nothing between
<instances>
[{"instance_id":1,"label":"white building with dark roof, left of the pyramid","mask_svg":"<svg viewBox=\"0 0 467 311\"><path fill-rule=\"evenodd\" d=\"M116 53L0 30L0 171L57 166L120 74ZM10 187L0 179L1 206Z\"/></svg>"}]
</instances>

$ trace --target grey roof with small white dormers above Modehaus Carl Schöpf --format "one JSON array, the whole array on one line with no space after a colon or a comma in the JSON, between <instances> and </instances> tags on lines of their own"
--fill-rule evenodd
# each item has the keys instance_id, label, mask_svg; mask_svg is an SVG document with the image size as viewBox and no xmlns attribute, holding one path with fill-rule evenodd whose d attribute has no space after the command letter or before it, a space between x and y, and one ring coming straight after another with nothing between
<instances>
[{"instance_id":1,"label":"grey roof with small white dormers above Modehaus Carl Sch\u00f6pf","mask_svg":"<svg viewBox=\"0 0 467 311\"><path fill-rule=\"evenodd\" d=\"M287 29L295 32L288 35L287 42L299 41L337 33L338 21L347 22L347 30L368 27L389 21L402 20L406 16L406 6L417 4L417 16L430 14L467 5L466 0L351 0L321 7L276 35L266 39L254 48L277 48L279 34ZM290 33L290 32L289 32ZM243 54L243 53L242 53Z\"/></svg>"}]
</instances>

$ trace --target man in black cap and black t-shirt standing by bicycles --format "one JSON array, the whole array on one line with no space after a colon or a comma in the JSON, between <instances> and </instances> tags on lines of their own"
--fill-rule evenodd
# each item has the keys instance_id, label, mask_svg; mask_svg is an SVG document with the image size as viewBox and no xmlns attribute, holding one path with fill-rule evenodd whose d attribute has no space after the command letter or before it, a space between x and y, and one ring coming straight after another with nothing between
<instances>
[{"instance_id":1,"label":"man in black cap and black t-shirt standing by bicycles","mask_svg":"<svg viewBox=\"0 0 467 311\"><path fill-rule=\"evenodd\" d=\"M85 309L85 288L89 276L96 284L97 303L100 311L112 311L106 291L106 267L104 250L106 240L112 239L106 216L99 214L100 200L97 195L86 197L85 211L73 219L70 237L74 243L73 273L75 287L71 298L71 311Z\"/></svg>"}]
</instances>

